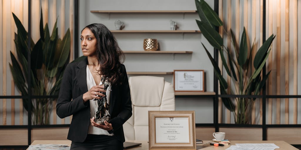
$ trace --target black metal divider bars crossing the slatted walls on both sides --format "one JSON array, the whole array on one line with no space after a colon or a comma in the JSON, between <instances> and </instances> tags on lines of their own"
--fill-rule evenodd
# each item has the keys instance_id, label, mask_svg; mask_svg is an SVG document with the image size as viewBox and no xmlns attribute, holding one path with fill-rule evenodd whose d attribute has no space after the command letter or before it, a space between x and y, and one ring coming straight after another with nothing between
<instances>
[{"instance_id":1,"label":"black metal divider bars crossing the slatted walls on both sides","mask_svg":"<svg viewBox=\"0 0 301 150\"><path fill-rule=\"evenodd\" d=\"M262 40L265 41L265 6L266 1L263 1L263 21L262 21ZM28 0L28 39L31 38L31 0ZM218 13L219 11L219 0L214 0L214 11ZM78 30L79 30L79 0L74 0L74 39L78 38ZM216 28L218 31L219 29ZM30 41L27 42L28 47L30 49ZM74 58L78 58L78 40L74 40ZM218 61L218 52L214 49L214 60ZM30 68L30 52L27 55L28 58L28 67ZM265 75L265 66L263 67L262 73ZM28 72L28 83L30 83L30 72ZM0 96L0 99L11 99L11 98L57 98L57 95L43 95L43 96L35 96L31 93L30 84L28 86L28 95L27 96ZM176 98L213 98L213 124L196 124L197 127L214 127L215 131L218 132L220 127L246 127L246 128L262 128L262 140L267 140L267 128L301 128L301 124L298 125L266 125L266 98L301 98L301 95L266 95L266 86L264 85L262 89L262 95L219 95L218 94L218 79L214 73L213 79L213 88L215 91L215 95L176 95ZM262 125L240 125L240 124L219 124L218 123L218 99L219 98L262 98ZM29 105L29 110L31 110L31 106ZM31 144L31 130L33 128L57 128L57 127L69 127L70 125L31 125L31 111L28 112L28 125L0 125L0 129L28 129L28 145ZM1 148L27 148L28 145L19 145L19 146L0 146ZM301 145L293 145L295 147L301 147Z\"/></svg>"}]
</instances>

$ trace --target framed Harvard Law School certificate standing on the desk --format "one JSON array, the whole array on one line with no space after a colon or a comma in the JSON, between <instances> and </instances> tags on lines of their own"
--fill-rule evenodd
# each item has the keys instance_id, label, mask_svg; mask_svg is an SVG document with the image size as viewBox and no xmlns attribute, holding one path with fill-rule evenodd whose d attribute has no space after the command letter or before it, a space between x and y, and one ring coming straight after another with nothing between
<instances>
[{"instance_id":1,"label":"framed Harvard Law School certificate standing on the desk","mask_svg":"<svg viewBox=\"0 0 301 150\"><path fill-rule=\"evenodd\" d=\"M148 111L149 149L196 149L194 111Z\"/></svg>"}]
</instances>

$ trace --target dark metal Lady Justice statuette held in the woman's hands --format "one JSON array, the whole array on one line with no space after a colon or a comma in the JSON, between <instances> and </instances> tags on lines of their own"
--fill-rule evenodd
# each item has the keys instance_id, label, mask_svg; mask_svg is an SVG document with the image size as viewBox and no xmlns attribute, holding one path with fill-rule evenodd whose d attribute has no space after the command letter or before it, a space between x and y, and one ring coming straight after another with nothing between
<instances>
[{"instance_id":1,"label":"dark metal Lady Justice statuette held in the woman's hands","mask_svg":"<svg viewBox=\"0 0 301 150\"><path fill-rule=\"evenodd\" d=\"M107 90L109 85L111 85L111 82L109 82L109 77L106 77L106 78L101 77L101 82L102 82L102 85L104 86L104 90ZM112 90L110 89L110 91L112 91ZM100 92L100 93L106 95L106 92ZM107 95L104 97L101 97L100 99L94 99L94 101L95 101L95 119L94 119L94 121L98 124L104 125L105 120L107 122L110 120L110 114L109 114L110 105L107 103ZM98 105L98 108L97 108L97 105Z\"/></svg>"}]
</instances>

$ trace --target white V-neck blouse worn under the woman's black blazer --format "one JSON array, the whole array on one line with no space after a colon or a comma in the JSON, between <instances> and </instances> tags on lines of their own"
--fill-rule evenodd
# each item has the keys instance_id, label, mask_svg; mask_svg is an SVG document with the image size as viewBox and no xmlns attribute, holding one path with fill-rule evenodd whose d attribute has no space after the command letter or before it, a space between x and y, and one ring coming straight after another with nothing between
<instances>
[{"instance_id":1,"label":"white V-neck blouse worn under the woman's black blazer","mask_svg":"<svg viewBox=\"0 0 301 150\"><path fill-rule=\"evenodd\" d=\"M89 90L90 88L95 86L96 83L95 83L95 80L92 76L92 73L91 73L88 65L86 68L86 75L87 75L87 88ZM102 84L102 82L100 81L99 85L101 85L101 84ZM110 89L111 89L111 85L109 85L109 87L107 88L107 91L106 91L108 104L110 104L110 93L111 93ZM92 117L95 117L95 101L94 101L94 99L92 99L92 100L89 100L89 102L90 102L90 118L92 118ZM98 107L97 103L96 103L96 107ZM110 114L110 113L106 110L106 115L108 115L108 114ZM97 135L102 134L102 135L109 135L109 136L114 135L113 133L109 134L108 131L106 131L104 129L92 126L91 122L89 123L88 134L97 134Z\"/></svg>"}]
</instances>

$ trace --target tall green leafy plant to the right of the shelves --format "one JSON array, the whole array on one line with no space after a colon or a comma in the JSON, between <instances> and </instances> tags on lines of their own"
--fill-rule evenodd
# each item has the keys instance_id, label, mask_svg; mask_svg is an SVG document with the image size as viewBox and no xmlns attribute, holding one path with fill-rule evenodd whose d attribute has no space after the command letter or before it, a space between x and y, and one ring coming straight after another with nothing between
<instances>
[{"instance_id":1,"label":"tall green leafy plant to the right of the shelves","mask_svg":"<svg viewBox=\"0 0 301 150\"><path fill-rule=\"evenodd\" d=\"M227 75L231 77L233 82L238 85L238 88L233 89L233 87L228 86L226 80L221 74L222 68L219 68L216 61L203 45L212 65L217 79L220 83L220 93L233 94L233 95L259 95L263 85L268 78L271 70L261 76L262 67L265 64L265 61L268 58L268 54L271 49L270 46L275 36L271 35L258 49L253 64L251 64L252 51L255 50L253 45L251 47L247 46L247 35L244 28L242 33L240 44L236 42L234 33L231 30L231 43L233 44L234 50L231 50L231 47L226 47L223 45L223 38L215 30L216 27L223 26L223 22L219 19L219 16L214 10L204 1L204 0L195 0L197 7L197 13L200 16L201 21L196 20L200 31L203 36L208 40L208 42L219 51L219 55L222 59L223 67L225 68ZM248 51L250 49L250 51ZM233 55L232 55L233 54ZM228 61L226 61L226 57ZM252 65L255 68L251 72ZM231 93L227 93L226 89L230 88ZM253 107L254 100L256 98L235 98L236 104L234 105L233 101L230 98L222 98L222 102L225 107L230 110L234 115L234 121L236 124L249 124L250 115ZM237 112L235 111L237 109Z\"/></svg>"}]
</instances>

